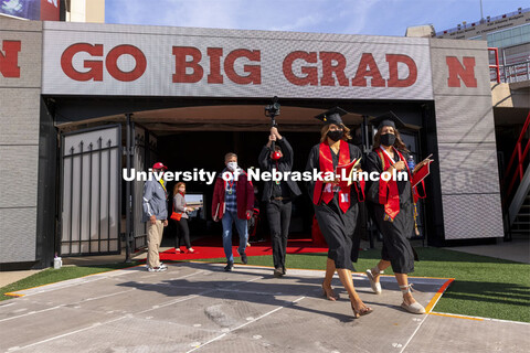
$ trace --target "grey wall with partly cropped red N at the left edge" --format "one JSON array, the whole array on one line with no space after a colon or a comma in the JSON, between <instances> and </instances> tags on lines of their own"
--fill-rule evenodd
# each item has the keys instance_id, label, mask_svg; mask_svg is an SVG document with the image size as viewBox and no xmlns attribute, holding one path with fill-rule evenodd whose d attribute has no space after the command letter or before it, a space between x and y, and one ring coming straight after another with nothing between
<instances>
[{"instance_id":1,"label":"grey wall with partly cropped red N at the left edge","mask_svg":"<svg viewBox=\"0 0 530 353\"><path fill-rule=\"evenodd\" d=\"M0 29L2 54L21 43L19 77L0 71L0 263L34 261L42 22L0 18Z\"/></svg>"}]
</instances>

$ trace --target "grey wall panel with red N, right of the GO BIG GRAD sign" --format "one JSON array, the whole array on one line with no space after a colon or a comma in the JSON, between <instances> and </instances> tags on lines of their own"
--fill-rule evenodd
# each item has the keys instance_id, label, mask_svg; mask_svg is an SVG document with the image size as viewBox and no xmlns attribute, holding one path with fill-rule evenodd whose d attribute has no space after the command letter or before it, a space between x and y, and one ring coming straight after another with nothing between
<instances>
[{"instance_id":1,"label":"grey wall panel with red N, right of the GO BIG GRAD sign","mask_svg":"<svg viewBox=\"0 0 530 353\"><path fill-rule=\"evenodd\" d=\"M447 56L474 57L476 87L448 84ZM485 42L431 40L445 239L501 237L502 212ZM470 72L469 72L470 73Z\"/></svg>"}]
</instances>

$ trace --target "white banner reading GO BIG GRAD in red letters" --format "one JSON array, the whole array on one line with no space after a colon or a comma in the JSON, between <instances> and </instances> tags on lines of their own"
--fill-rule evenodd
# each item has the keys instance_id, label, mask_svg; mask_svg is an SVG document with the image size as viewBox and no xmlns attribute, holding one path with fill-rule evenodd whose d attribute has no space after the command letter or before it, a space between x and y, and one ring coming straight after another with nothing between
<instances>
[{"instance_id":1,"label":"white banner reading GO BIG GRAD in red letters","mask_svg":"<svg viewBox=\"0 0 530 353\"><path fill-rule=\"evenodd\" d=\"M43 94L433 99L427 39L44 23Z\"/></svg>"}]
</instances>

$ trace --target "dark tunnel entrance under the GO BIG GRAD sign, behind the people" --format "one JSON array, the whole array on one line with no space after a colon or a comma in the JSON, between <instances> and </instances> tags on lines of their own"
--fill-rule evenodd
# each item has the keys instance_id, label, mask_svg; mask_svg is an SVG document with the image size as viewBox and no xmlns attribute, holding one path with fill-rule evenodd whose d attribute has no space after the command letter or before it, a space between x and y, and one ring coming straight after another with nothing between
<instances>
[{"instance_id":1,"label":"dark tunnel entrance under the GO BIG GRAD sign, behind the people","mask_svg":"<svg viewBox=\"0 0 530 353\"><path fill-rule=\"evenodd\" d=\"M77 99L63 97L53 98L49 103L52 103L52 108L55 111L55 126L62 136L118 126L120 130L120 146L123 148L119 161L121 170L147 171L156 161L160 161L168 165L169 171L172 172L193 172L201 169L206 172L221 172L224 169L224 154L226 152L235 152L239 157L239 164L244 170L259 168L257 158L263 146L267 142L271 129L271 119L264 115L264 106L268 101L263 99L259 101L244 101L244 99L220 101L220 99L215 99L215 101L208 103L189 101L188 104L182 104L180 101L179 106L171 107L171 105L174 105L173 99L173 104L158 101L158 108L152 108L149 105L156 99L142 100L140 98L131 103L130 98L106 101L100 98ZM132 106L132 109L124 109L127 101ZM304 101L287 99L282 99L280 103L280 115L276 117L276 122L278 124L279 132L288 139L294 149L294 171L305 170L311 147L319 142L321 122L314 117L333 106L340 106L349 111L342 119L352 130L353 140L350 142L361 148L363 152L368 152L371 148L371 137L374 133L374 129L370 126L369 120L371 117L389 110L394 111L407 124L407 128L402 131L402 137L409 149L416 157L416 160L423 156L422 150L427 148L422 146L422 141L427 140L426 135L432 133L432 136L435 136L434 116L430 116L430 110L426 108L428 106L427 103L389 101L382 104L381 101ZM166 107L163 107L165 105ZM160 106L162 107L160 108ZM121 111L119 114L94 117L95 114L113 110ZM431 111L433 110L431 109ZM72 117L75 117L75 119L72 119ZM420 129L423 126L431 126L431 130ZM432 143L432 138L428 140ZM432 147L428 147L428 150L432 150ZM118 161L116 160L116 162ZM87 158L83 159L82 157L78 164L74 163L75 170L80 169L81 164L85 164L86 169L86 163L93 165L94 163L97 164L97 161L88 161ZM116 245L112 248L110 246L104 247L102 252L100 245L95 250L96 240L99 244L102 238L102 234L96 233L102 231L96 231L97 226L92 226L93 222L96 225L99 221L86 220L86 216L83 221L82 215L86 214L86 212L83 212L83 208L78 212L74 210L70 213L64 212L66 204L76 203L72 199L73 193L68 195L66 190L71 185L66 182L66 179L68 179L66 170L67 168L62 165L60 171L62 178L59 188L61 197L71 197L71 201L57 201L60 210L62 210L57 214L57 220L62 224L62 226L57 227L60 234L57 234L55 245L55 250L59 250L59 254L62 256L84 256L120 253L121 249L125 249L129 255L129 253L137 252L146 246L147 228L141 222L142 181L129 183L120 175L120 181L116 184L119 188L119 192L116 193L116 196L119 199L117 202L119 205L116 205L119 208L117 211L119 222L116 222L115 226L116 235L119 236L116 237ZM116 168L115 170L118 171L119 169ZM74 173L70 174L70 178L78 179ZM77 185L88 186L86 184L88 183L88 178L85 178L84 181L83 178L81 179L82 181L78 182L81 184L77 183ZM169 181L167 184L169 200L172 200L172 191L177 182L177 180ZM211 240L219 240L219 244L221 244L221 223L213 222L211 215L214 185L204 181L186 183L187 196L193 199L194 202L203 203L203 207L199 212L192 213L190 221L192 242L199 237L206 237ZM75 182L72 182L72 184L75 184ZM269 233L266 213L264 212L265 205L261 201L263 182L255 181L254 184L258 189L257 199L259 200L256 203L256 207L262 212L259 213L255 234L250 238L251 243L257 239L267 239ZM312 203L303 182L299 182L299 186L303 195L293 202L289 238L310 239L314 215ZM85 188L81 189L84 190ZM108 190L110 190L110 186ZM83 195L83 192L81 192L75 197L87 202L93 196L91 194ZM96 200L98 197L94 196L93 199ZM423 207L424 205L421 206L422 215ZM92 206L88 206L88 210L92 210ZM171 210L171 203L169 203L169 210ZM94 212L94 214L97 217L100 213ZM82 220L77 220L80 217ZM113 217L108 216L108 218ZM75 224L76 222L78 223L77 226L72 226L72 223ZM66 224L70 224L70 227ZM426 222L422 220L420 226L421 237L425 238L426 234L430 233ZM85 228L95 229L85 232ZM110 229L112 226L108 225L107 229L103 231L104 237L110 238ZM373 229L371 231L365 214L359 217L357 232L363 238L372 242L378 238L373 234ZM162 246L172 247L174 245L174 225L171 224L165 229ZM129 239L129 243L127 239ZM127 248L127 244L130 245L129 248Z\"/></svg>"}]
</instances>

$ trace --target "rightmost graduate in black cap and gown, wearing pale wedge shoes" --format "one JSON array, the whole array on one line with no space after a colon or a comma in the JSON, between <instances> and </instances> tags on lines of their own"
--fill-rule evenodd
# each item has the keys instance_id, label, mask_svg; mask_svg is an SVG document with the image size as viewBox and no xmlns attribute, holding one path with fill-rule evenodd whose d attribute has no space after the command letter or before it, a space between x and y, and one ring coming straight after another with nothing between
<instances>
[{"instance_id":1,"label":"rightmost graduate in black cap and gown, wearing pale wedge shoes","mask_svg":"<svg viewBox=\"0 0 530 353\"><path fill-rule=\"evenodd\" d=\"M372 124L379 124L373 148L364 162L368 173L383 171L406 173L406 180L399 178L384 181L371 181L367 184L368 208L375 225L383 235L383 249L379 264L367 270L372 290L381 293L380 275L392 266L395 279L403 293L401 307L412 313L425 313L425 308L415 301L409 285L407 274L414 271L415 253L409 242L413 235L415 221L415 190L411 185L412 175L424 163L418 163L414 170L409 170L406 161L409 150L403 143L398 128L405 125L393 113L389 113ZM390 176L390 175L389 175ZM405 178L403 178L405 179Z\"/></svg>"}]
</instances>

